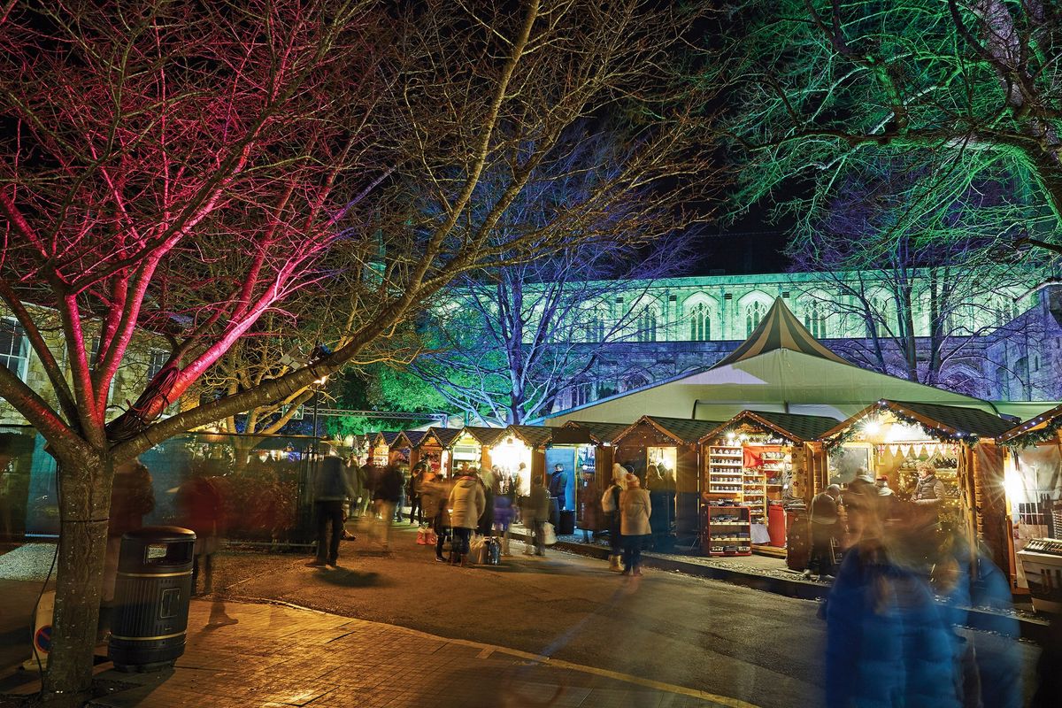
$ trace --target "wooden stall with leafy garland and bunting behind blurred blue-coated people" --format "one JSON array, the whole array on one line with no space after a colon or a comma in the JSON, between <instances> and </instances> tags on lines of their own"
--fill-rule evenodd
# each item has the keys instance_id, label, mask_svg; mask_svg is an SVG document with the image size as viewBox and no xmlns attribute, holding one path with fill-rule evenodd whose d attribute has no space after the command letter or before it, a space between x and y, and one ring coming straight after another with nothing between
<instances>
[{"instance_id":1,"label":"wooden stall with leafy garland and bunting behind blurred blue-coated people","mask_svg":"<svg viewBox=\"0 0 1062 708\"><path fill-rule=\"evenodd\" d=\"M996 444L1012 427L977 409L880 400L823 434L828 481L846 486L866 469L907 501L919 467L927 463L943 487L942 526L983 541L996 565L1013 577L1004 451Z\"/></svg>"}]
</instances>

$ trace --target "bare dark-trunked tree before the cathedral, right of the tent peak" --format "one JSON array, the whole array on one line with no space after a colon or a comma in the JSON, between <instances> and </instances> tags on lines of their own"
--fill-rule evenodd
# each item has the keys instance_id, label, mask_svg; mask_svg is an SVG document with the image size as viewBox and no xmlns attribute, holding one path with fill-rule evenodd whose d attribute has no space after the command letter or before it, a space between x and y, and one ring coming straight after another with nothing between
<instances>
[{"instance_id":1,"label":"bare dark-trunked tree before the cathedral, right of the tent peak","mask_svg":"<svg viewBox=\"0 0 1062 708\"><path fill-rule=\"evenodd\" d=\"M894 158L846 174L835 194L817 228L789 246L794 272L828 283L806 295L812 331L829 313L866 338L838 346L847 358L929 385L973 372L978 380L963 384L981 393L988 362L978 342L1014 333L1015 297L1042 274L996 227L1020 212L1011 190L984 182L940 202L922 169Z\"/></svg>"}]
</instances>

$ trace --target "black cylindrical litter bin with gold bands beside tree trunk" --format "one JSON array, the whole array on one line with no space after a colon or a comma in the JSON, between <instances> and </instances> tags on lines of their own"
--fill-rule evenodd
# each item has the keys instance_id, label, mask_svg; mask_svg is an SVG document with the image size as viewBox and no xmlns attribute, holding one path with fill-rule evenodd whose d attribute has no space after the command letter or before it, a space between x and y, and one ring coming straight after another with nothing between
<instances>
[{"instance_id":1,"label":"black cylindrical litter bin with gold bands beside tree trunk","mask_svg":"<svg viewBox=\"0 0 1062 708\"><path fill-rule=\"evenodd\" d=\"M121 671L153 671L185 653L195 533L144 526L122 536L107 654Z\"/></svg>"}]
</instances>

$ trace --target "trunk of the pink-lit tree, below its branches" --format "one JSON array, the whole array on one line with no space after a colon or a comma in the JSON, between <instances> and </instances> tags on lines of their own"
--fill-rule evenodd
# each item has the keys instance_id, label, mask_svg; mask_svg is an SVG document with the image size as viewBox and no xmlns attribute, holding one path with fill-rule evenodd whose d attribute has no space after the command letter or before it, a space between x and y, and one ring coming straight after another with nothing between
<instances>
[{"instance_id":1,"label":"trunk of the pink-lit tree, below its branches","mask_svg":"<svg viewBox=\"0 0 1062 708\"><path fill-rule=\"evenodd\" d=\"M112 476L100 461L57 462L55 616L42 697L49 706L72 708L90 697Z\"/></svg>"}]
</instances>

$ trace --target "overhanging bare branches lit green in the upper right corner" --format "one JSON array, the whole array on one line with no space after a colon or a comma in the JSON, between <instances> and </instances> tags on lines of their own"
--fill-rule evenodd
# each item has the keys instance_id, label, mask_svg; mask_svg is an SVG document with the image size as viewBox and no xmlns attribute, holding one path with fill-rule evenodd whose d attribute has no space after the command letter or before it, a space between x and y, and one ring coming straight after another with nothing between
<instances>
[{"instance_id":1,"label":"overhanging bare branches lit green in the upper right corner","mask_svg":"<svg viewBox=\"0 0 1062 708\"><path fill-rule=\"evenodd\" d=\"M733 14L735 202L810 232L846 176L897 158L897 203L949 204L996 183L1021 218L983 224L1062 253L1062 18L1007 0L748 0ZM988 253L988 252L986 252Z\"/></svg>"}]
</instances>

